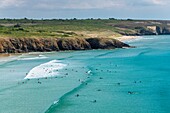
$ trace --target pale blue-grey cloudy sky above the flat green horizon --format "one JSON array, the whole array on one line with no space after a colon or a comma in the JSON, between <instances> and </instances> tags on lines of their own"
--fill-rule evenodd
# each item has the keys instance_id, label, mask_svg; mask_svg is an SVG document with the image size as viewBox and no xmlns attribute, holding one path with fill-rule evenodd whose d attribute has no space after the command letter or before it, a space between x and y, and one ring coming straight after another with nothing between
<instances>
[{"instance_id":1,"label":"pale blue-grey cloudy sky above the flat green horizon","mask_svg":"<svg viewBox=\"0 0 170 113\"><path fill-rule=\"evenodd\" d=\"M170 19L170 0L0 0L0 18Z\"/></svg>"}]
</instances>

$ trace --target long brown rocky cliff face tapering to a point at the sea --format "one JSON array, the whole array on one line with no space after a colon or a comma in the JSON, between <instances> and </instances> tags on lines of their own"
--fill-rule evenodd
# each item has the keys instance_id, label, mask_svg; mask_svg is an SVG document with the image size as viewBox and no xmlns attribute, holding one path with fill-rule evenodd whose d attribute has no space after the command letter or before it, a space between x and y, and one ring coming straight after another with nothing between
<instances>
[{"instance_id":1,"label":"long brown rocky cliff face tapering to a point at the sea","mask_svg":"<svg viewBox=\"0 0 170 113\"><path fill-rule=\"evenodd\" d=\"M107 38L0 38L0 53L114 49L123 47L130 46L118 40Z\"/></svg>"}]
</instances>

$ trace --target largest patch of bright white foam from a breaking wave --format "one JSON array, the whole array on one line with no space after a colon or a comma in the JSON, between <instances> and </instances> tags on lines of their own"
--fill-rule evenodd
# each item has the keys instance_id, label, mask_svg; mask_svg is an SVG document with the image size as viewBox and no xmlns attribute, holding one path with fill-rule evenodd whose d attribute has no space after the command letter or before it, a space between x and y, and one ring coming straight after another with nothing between
<instances>
[{"instance_id":1,"label":"largest patch of bright white foam from a breaking wave","mask_svg":"<svg viewBox=\"0 0 170 113\"><path fill-rule=\"evenodd\" d=\"M29 71L24 79L35 79L44 77L54 77L58 75L59 69L62 69L66 64L59 63L57 60L52 60L50 62L40 64Z\"/></svg>"}]
</instances>

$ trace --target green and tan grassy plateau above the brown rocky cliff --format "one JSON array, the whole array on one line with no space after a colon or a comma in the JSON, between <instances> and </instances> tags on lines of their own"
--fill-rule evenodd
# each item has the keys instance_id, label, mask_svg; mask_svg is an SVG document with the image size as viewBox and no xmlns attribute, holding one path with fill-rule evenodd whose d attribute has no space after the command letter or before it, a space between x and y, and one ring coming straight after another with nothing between
<instances>
[{"instance_id":1,"label":"green and tan grassy plateau above the brown rocky cliff","mask_svg":"<svg viewBox=\"0 0 170 113\"><path fill-rule=\"evenodd\" d=\"M170 21L110 19L0 19L0 37L117 37L133 35L154 26L170 27Z\"/></svg>"}]
</instances>

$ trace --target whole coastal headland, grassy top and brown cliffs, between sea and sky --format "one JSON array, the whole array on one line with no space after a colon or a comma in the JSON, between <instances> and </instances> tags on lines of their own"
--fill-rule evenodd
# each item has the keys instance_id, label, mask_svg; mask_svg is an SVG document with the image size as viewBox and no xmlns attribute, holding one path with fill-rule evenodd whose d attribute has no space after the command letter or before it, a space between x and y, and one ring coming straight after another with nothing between
<instances>
[{"instance_id":1,"label":"whole coastal headland, grassy top and brown cliffs, between sea and sky","mask_svg":"<svg viewBox=\"0 0 170 113\"><path fill-rule=\"evenodd\" d=\"M0 53L124 48L118 37L169 34L168 20L0 19Z\"/></svg>"}]
</instances>

